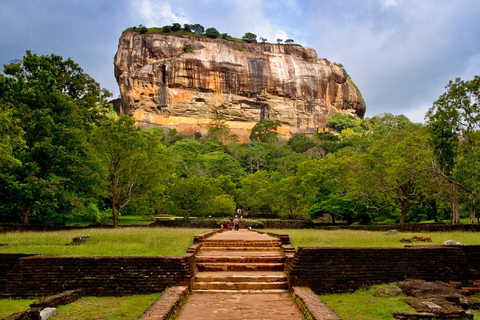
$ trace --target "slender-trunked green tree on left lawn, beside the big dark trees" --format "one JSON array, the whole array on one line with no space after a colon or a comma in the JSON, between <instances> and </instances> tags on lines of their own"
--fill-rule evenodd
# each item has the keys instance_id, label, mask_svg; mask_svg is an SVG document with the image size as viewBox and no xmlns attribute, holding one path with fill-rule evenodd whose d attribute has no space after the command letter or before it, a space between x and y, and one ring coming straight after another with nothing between
<instances>
[{"instance_id":1,"label":"slender-trunked green tree on left lawn, beside the big dark trees","mask_svg":"<svg viewBox=\"0 0 480 320\"><path fill-rule=\"evenodd\" d=\"M108 119L91 136L114 227L123 207L149 197L152 191L164 191L162 180L170 169L157 131L142 131L134 124L129 116Z\"/></svg>"}]
</instances>

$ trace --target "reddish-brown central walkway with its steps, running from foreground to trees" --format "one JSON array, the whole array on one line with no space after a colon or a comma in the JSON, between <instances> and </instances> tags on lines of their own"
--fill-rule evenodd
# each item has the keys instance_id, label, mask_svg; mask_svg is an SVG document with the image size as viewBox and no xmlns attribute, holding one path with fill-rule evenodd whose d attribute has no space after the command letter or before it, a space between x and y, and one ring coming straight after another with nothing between
<instances>
[{"instance_id":1,"label":"reddish-brown central walkway with its steps, running from foreground to trees","mask_svg":"<svg viewBox=\"0 0 480 320\"><path fill-rule=\"evenodd\" d=\"M239 264L242 261L250 260L252 260L254 264L268 264L268 262L265 263L265 261L269 261L269 258L273 259L278 257L278 259L281 259L283 257L280 253L280 244L276 243L276 240L278 239L269 235L259 234L245 229L240 229L238 231L225 231L208 238L206 240L208 243L205 243L206 247L202 247L203 250L201 250L199 257L204 260L207 259L207 261L218 257L220 260L218 264L224 263L227 265L230 264L230 260L237 261ZM221 245L221 247L217 247L217 245ZM261 278L261 281L268 286L268 281L279 281L278 279L282 277L285 278L285 275L283 271L251 271L248 270L247 267L245 270L236 268L236 270L231 271L199 272L197 279L200 280L197 281L203 281L201 279L213 277L225 281L222 285L224 288L228 288L228 285L242 288L243 285L245 288L250 288L251 286L253 289L258 289L255 282L238 284L236 281L259 281L256 279ZM239 280L240 278L248 280ZM210 284L210 286L213 287L214 284ZM218 290L207 290L205 293L194 290L177 319L304 319L299 308L285 289L215 291ZM255 293L250 293L249 291Z\"/></svg>"}]
</instances>

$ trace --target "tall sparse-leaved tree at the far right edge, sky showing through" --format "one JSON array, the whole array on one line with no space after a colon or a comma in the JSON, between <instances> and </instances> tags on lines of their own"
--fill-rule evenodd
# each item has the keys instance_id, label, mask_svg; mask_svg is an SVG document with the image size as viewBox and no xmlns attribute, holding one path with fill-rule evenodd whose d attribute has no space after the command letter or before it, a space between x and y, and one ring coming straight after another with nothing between
<instances>
[{"instance_id":1,"label":"tall sparse-leaved tree at the far right edge, sky showing through","mask_svg":"<svg viewBox=\"0 0 480 320\"><path fill-rule=\"evenodd\" d=\"M425 118L432 136L434 171L451 184L452 222L457 223L460 221L458 188L473 198L478 193L478 190L475 192L465 186L453 173L458 157L476 147L474 136L480 123L480 77L475 76L471 81L450 81L445 88L447 91L434 102Z\"/></svg>"}]
</instances>

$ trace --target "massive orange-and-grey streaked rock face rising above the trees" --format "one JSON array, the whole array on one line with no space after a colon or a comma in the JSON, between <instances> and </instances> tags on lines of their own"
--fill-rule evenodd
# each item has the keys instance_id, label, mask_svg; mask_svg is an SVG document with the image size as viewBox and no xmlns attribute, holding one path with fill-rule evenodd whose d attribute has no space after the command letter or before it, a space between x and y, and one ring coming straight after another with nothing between
<instances>
[{"instance_id":1,"label":"massive orange-and-grey streaked rock face rising above the trees","mask_svg":"<svg viewBox=\"0 0 480 320\"><path fill-rule=\"evenodd\" d=\"M126 31L114 64L121 112L179 131L205 133L222 115L246 141L260 119L288 136L322 131L337 112L365 113L343 68L296 45Z\"/></svg>"}]
</instances>

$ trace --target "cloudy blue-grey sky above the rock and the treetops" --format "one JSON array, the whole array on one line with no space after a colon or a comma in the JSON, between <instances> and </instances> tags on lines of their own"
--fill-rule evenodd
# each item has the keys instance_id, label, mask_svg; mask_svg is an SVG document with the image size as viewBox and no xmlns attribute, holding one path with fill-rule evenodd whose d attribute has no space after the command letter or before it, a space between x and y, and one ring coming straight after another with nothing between
<instances>
[{"instance_id":1,"label":"cloudy blue-grey sky above the rock and the treetops","mask_svg":"<svg viewBox=\"0 0 480 320\"><path fill-rule=\"evenodd\" d=\"M26 50L53 53L73 59L116 98L122 31L175 22L313 48L345 67L367 117L423 122L450 80L480 74L478 0L0 0L0 66Z\"/></svg>"}]
</instances>

